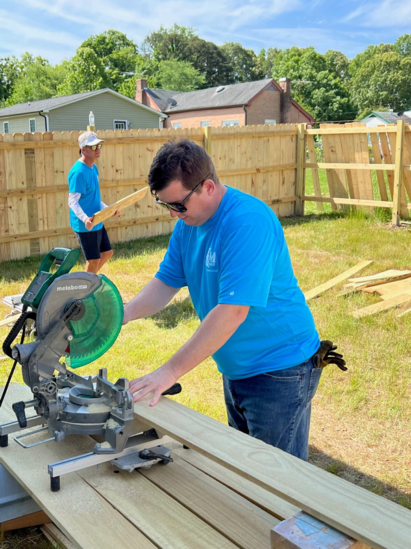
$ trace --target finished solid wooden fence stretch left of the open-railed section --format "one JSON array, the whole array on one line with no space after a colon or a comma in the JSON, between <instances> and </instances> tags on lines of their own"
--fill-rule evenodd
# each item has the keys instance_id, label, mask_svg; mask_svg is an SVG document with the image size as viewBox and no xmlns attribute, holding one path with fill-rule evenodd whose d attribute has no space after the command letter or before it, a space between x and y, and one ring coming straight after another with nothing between
<instances>
[{"instance_id":1,"label":"finished solid wooden fence stretch left of the open-railed section","mask_svg":"<svg viewBox=\"0 0 411 549\"><path fill-rule=\"evenodd\" d=\"M79 133L0 135L0 261L46 253L53 246L78 246L69 226L67 177L79 158ZM147 185L149 167L163 143L187 137L211 154L223 183L264 200L277 215L295 213L301 125L97 134L105 139L97 165L101 198L108 205ZM112 242L170 233L173 224L149 193L120 218L105 222Z\"/></svg>"}]
</instances>

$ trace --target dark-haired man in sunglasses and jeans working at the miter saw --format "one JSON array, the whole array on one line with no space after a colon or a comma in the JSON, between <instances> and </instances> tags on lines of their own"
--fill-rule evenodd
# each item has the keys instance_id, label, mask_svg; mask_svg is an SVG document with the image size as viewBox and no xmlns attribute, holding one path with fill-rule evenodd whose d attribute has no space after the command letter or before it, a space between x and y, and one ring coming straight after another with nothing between
<instances>
[{"instance_id":1,"label":"dark-haired man in sunglasses and jeans working at the miter saw","mask_svg":"<svg viewBox=\"0 0 411 549\"><path fill-rule=\"evenodd\" d=\"M123 323L155 314L188 286L201 325L170 360L130 382L134 400L154 393L154 406L212 355L229 425L306 460L320 340L277 217L222 185L210 156L186 139L162 146L149 185L179 220L157 274L125 305Z\"/></svg>"}]
</instances>

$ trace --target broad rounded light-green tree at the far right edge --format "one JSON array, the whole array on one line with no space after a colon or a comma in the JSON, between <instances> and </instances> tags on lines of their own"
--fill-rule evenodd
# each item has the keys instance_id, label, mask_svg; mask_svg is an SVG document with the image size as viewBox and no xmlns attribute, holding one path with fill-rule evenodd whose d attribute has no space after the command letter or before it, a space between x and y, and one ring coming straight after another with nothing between
<instances>
[{"instance_id":1,"label":"broad rounded light-green tree at the far right edge","mask_svg":"<svg viewBox=\"0 0 411 549\"><path fill-rule=\"evenodd\" d=\"M353 77L353 101L362 111L383 105L395 111L411 106L411 57L386 51L364 62Z\"/></svg>"}]
</instances>

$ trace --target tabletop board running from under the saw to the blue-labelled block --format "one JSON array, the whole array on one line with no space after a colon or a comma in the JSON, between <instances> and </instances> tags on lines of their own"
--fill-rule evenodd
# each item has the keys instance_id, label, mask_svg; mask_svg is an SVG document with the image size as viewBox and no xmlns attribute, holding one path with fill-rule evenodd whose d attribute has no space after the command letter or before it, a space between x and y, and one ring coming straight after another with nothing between
<instances>
[{"instance_id":1,"label":"tabletop board running from under the saw to the blue-labelled block","mask_svg":"<svg viewBox=\"0 0 411 549\"><path fill-rule=\"evenodd\" d=\"M171 445L169 445L171 447ZM279 520L173 452L167 467L140 474L243 549L270 549L270 530Z\"/></svg>"}]
</instances>

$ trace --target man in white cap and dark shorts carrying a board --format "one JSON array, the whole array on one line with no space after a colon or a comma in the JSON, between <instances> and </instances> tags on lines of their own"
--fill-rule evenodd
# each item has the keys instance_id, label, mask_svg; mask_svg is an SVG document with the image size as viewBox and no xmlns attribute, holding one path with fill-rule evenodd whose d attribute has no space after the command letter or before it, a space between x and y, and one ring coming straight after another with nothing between
<instances>
[{"instance_id":1,"label":"man in white cap and dark shorts carrying a board","mask_svg":"<svg viewBox=\"0 0 411 549\"><path fill-rule=\"evenodd\" d=\"M113 255L113 250L103 223L94 224L92 216L107 205L101 202L99 159L103 139L95 132L83 132L79 136L80 158L69 172L70 225L86 257L86 272L99 272ZM119 215L116 211L114 215Z\"/></svg>"}]
</instances>

